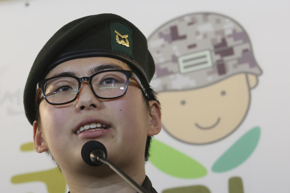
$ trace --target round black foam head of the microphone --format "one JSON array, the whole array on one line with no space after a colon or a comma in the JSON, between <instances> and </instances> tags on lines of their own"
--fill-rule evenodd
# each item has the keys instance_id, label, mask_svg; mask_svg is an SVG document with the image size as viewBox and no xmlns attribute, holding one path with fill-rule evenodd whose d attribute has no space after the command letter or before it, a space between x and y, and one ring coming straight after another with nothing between
<instances>
[{"instance_id":1,"label":"round black foam head of the microphone","mask_svg":"<svg viewBox=\"0 0 290 193\"><path fill-rule=\"evenodd\" d=\"M90 154L94 150L98 150L98 152L100 152L100 155L102 154L105 155L105 157L103 155L102 157L104 157L105 159L107 158L107 149L101 142L93 141L93 140L88 141L82 146L81 154L82 154L82 160L84 160L84 162L88 164L89 166L99 166L102 164L101 162L98 162L98 163L92 162Z\"/></svg>"}]
</instances>

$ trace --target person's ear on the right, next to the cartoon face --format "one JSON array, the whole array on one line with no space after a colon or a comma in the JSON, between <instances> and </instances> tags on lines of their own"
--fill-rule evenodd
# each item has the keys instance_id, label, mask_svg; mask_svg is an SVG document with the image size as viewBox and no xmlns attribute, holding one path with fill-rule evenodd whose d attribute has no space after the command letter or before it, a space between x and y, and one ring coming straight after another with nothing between
<instances>
[{"instance_id":1,"label":"person's ear on the right, next to the cartoon face","mask_svg":"<svg viewBox=\"0 0 290 193\"><path fill-rule=\"evenodd\" d=\"M150 121L147 135L153 136L161 131L161 109L155 100L149 101L150 104Z\"/></svg>"}]
</instances>

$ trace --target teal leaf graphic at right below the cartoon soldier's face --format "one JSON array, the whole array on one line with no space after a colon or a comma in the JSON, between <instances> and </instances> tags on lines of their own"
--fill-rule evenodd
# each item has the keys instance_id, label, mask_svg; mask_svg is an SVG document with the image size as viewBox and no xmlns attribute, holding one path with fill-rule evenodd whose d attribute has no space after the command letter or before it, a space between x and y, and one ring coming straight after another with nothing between
<instances>
[{"instance_id":1,"label":"teal leaf graphic at right below the cartoon soldier's face","mask_svg":"<svg viewBox=\"0 0 290 193\"><path fill-rule=\"evenodd\" d=\"M244 134L212 166L213 172L226 172L242 164L255 150L260 138L260 128Z\"/></svg>"}]
</instances>

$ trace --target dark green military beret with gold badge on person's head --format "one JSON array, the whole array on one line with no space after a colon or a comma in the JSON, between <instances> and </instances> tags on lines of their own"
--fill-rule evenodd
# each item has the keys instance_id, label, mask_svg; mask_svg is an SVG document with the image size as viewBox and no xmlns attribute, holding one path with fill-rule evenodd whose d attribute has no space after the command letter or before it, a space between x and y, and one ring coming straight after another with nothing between
<instances>
[{"instance_id":1,"label":"dark green military beret with gold badge on person's head","mask_svg":"<svg viewBox=\"0 0 290 193\"><path fill-rule=\"evenodd\" d=\"M132 23L115 14L98 14L74 20L58 30L38 53L24 89L28 121L35 119L37 83L56 65L72 59L110 57L126 62L150 82L155 72L146 37Z\"/></svg>"}]
</instances>

